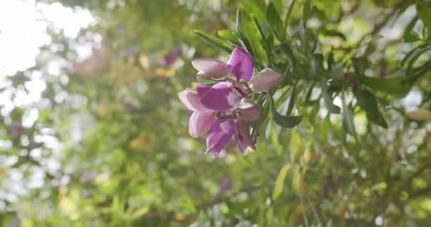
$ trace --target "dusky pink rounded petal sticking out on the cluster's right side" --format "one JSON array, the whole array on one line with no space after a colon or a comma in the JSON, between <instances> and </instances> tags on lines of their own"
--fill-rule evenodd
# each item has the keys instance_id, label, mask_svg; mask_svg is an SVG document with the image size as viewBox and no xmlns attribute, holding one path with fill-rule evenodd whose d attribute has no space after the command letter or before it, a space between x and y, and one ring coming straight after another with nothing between
<instances>
[{"instance_id":1,"label":"dusky pink rounded petal sticking out on the cluster's right side","mask_svg":"<svg viewBox=\"0 0 431 227\"><path fill-rule=\"evenodd\" d=\"M269 92L283 82L283 77L278 72L266 68L254 76L252 89L255 92Z\"/></svg>"}]
</instances>

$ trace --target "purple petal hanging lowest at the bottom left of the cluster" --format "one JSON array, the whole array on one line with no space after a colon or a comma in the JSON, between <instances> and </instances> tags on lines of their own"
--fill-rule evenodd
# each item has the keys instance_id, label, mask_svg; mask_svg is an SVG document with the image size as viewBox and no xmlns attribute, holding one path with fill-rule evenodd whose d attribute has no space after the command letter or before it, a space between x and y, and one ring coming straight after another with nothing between
<instances>
[{"instance_id":1,"label":"purple petal hanging lowest at the bottom left of the cluster","mask_svg":"<svg viewBox=\"0 0 431 227\"><path fill-rule=\"evenodd\" d=\"M232 138L234 133L233 119L224 118L218 119L211 126L211 133L206 138L207 153L218 155L226 143Z\"/></svg>"}]
</instances>

